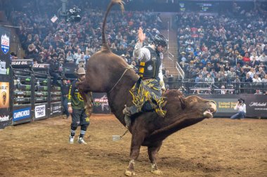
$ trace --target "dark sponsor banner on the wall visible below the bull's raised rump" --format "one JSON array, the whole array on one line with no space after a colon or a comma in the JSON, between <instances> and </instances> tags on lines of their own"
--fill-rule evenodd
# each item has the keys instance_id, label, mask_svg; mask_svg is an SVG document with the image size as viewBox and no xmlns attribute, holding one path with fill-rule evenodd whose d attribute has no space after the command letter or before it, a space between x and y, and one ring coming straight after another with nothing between
<instances>
[{"instance_id":1,"label":"dark sponsor banner on the wall visible below the bull's raised rump","mask_svg":"<svg viewBox=\"0 0 267 177\"><path fill-rule=\"evenodd\" d=\"M93 93L93 113L110 114L107 93Z\"/></svg>"}]
</instances>

